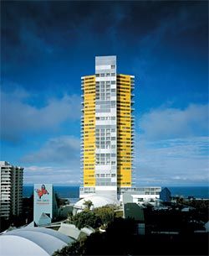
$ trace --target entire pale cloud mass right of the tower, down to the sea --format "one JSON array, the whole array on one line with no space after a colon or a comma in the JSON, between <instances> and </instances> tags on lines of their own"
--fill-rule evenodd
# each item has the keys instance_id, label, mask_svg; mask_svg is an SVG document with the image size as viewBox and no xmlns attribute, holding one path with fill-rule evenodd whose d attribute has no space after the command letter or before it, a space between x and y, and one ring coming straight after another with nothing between
<instances>
[{"instance_id":1,"label":"entire pale cloud mass right of the tower, down to the sea","mask_svg":"<svg viewBox=\"0 0 209 256\"><path fill-rule=\"evenodd\" d=\"M145 113L136 136L136 183L208 185L208 105Z\"/></svg>"}]
</instances>

